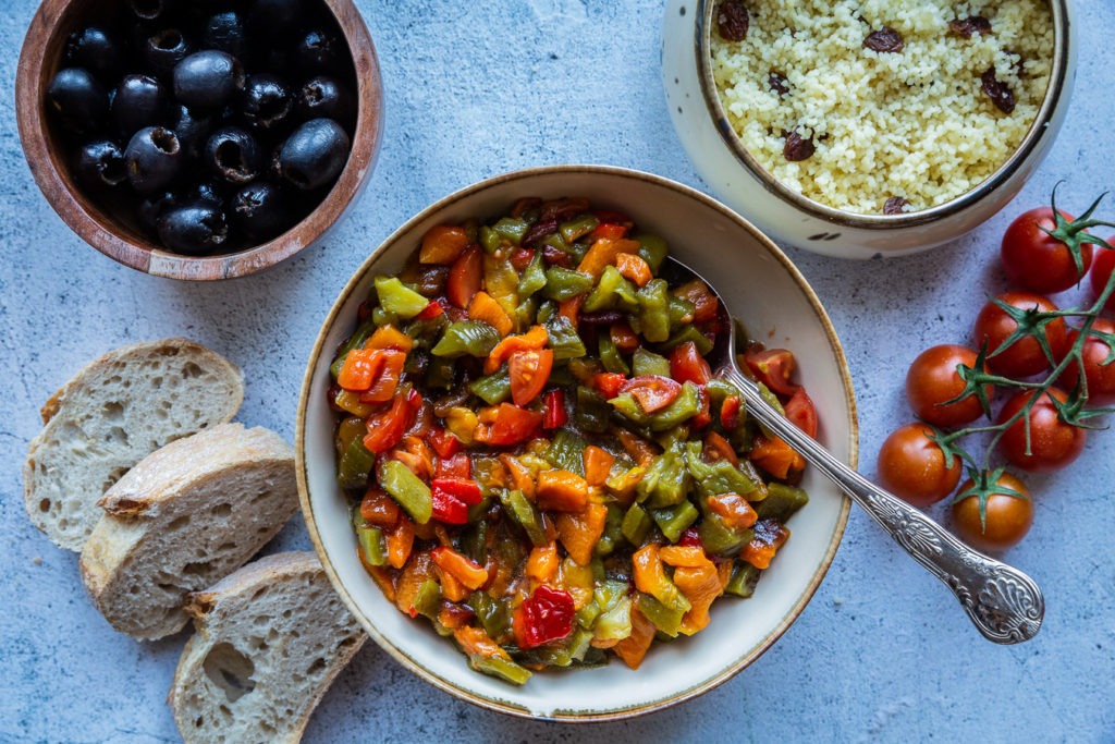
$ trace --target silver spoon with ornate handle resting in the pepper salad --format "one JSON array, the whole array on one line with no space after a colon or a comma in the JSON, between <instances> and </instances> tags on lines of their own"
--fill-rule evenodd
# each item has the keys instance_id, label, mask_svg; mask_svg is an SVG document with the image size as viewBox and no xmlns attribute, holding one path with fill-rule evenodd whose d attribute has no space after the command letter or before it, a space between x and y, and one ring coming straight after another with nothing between
<instances>
[{"instance_id":1,"label":"silver spoon with ornate handle resting in the pepper salad","mask_svg":"<svg viewBox=\"0 0 1115 744\"><path fill-rule=\"evenodd\" d=\"M669 257L669 261L673 264L671 274L677 273L679 279L682 279L681 274L700 279L716 294L720 307L727 308L715 284L677 259ZM724 342L718 340L709 363L718 377L739 388L747 413L840 486L914 560L943 581L986 638L997 644L1018 644L1032 638L1045 616L1045 598L1037 583L1018 569L960 542L921 511L836 460L782 416L763 399L758 386L739 371L735 356L735 322L726 325L729 329L727 338L721 335Z\"/></svg>"}]
</instances>

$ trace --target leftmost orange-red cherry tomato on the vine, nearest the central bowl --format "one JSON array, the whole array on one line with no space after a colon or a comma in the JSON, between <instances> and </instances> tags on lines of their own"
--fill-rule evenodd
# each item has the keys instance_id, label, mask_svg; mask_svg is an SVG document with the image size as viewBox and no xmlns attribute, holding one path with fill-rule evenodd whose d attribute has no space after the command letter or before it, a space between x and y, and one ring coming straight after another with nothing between
<instances>
[{"instance_id":1,"label":"leftmost orange-red cherry tomato on the vine, nearest the central bowl","mask_svg":"<svg viewBox=\"0 0 1115 744\"><path fill-rule=\"evenodd\" d=\"M929 438L925 424L906 424L892 432L879 450L879 482L895 496L924 509L956 491L963 465L944 466L941 445Z\"/></svg>"}]
</instances>

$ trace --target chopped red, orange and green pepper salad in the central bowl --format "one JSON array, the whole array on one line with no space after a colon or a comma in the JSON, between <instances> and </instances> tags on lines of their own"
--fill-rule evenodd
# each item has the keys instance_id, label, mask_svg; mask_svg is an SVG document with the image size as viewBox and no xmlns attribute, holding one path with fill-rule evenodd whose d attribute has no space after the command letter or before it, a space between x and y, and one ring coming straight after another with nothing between
<instances>
[{"instance_id":1,"label":"chopped red, orange and green pepper salad in the central bowl","mask_svg":"<svg viewBox=\"0 0 1115 744\"><path fill-rule=\"evenodd\" d=\"M338 349L338 479L387 598L473 668L637 668L750 597L806 503L804 461L704 355L728 322L666 243L583 199L437 225ZM750 347L811 435L793 356Z\"/></svg>"}]
</instances>

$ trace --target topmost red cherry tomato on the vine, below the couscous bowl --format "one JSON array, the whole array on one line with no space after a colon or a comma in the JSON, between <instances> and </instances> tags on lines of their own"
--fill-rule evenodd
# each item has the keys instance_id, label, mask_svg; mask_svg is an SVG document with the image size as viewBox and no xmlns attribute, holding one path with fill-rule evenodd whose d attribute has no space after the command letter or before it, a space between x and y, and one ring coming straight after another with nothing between
<instances>
[{"instance_id":1,"label":"topmost red cherry tomato on the vine, below the couscous bowl","mask_svg":"<svg viewBox=\"0 0 1115 744\"><path fill-rule=\"evenodd\" d=\"M1072 222L1073 216L1060 212L1060 216ZM1054 230L1057 222L1053 209L1039 206L1022 212L1007 228L1002 235L1002 268L1019 289L1048 294L1064 291L1078 283L1092 265L1092 244L1080 245L1082 270L1077 270L1068 245L1046 233Z\"/></svg>"}]
</instances>

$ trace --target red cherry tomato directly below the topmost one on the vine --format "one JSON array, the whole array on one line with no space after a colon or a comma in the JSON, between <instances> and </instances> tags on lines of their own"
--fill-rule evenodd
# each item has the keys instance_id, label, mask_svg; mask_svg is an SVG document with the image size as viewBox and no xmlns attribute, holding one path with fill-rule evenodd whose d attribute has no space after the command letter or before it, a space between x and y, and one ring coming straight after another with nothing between
<instances>
[{"instance_id":1,"label":"red cherry tomato directly below the topmost one on the vine","mask_svg":"<svg viewBox=\"0 0 1115 744\"><path fill-rule=\"evenodd\" d=\"M1041 294L1029 292L1006 292L999 300L1020 310L1037 309L1040 312L1057 310L1057 306ZM976 346L987 341L987 367L997 375L1009 377L1029 377L1049 369L1049 359L1031 336L1020 338L1006 349L999 351L1002 342L1015 332L1018 323L995 302L988 302L976 318ZM1067 329L1065 320L1057 318L1045 327L1046 341L1053 350L1054 358L1065 350ZM997 351L999 351L997 354Z\"/></svg>"}]
</instances>

